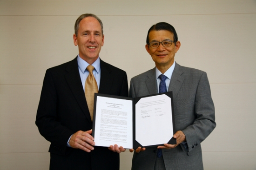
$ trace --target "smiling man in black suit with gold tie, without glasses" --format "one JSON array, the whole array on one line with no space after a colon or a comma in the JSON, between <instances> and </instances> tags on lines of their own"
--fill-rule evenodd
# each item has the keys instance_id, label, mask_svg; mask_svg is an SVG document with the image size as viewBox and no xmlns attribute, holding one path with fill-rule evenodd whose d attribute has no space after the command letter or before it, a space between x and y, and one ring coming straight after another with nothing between
<instances>
[{"instance_id":1,"label":"smiling man in black suit with gold tie, without glasses","mask_svg":"<svg viewBox=\"0 0 256 170\"><path fill-rule=\"evenodd\" d=\"M86 69L92 65L99 93L127 97L127 74L99 58L104 35L97 16L81 15L74 28L74 45L78 46L79 55L72 61L47 69L36 125L40 134L51 142L50 169L119 170L119 153L125 149L117 145L94 146L84 89L91 74Z\"/></svg>"}]
</instances>

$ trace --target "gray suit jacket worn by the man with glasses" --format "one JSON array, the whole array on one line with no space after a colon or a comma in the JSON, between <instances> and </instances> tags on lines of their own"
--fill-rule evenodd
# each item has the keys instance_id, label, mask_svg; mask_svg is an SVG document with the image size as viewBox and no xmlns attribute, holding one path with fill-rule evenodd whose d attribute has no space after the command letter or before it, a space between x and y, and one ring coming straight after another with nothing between
<instances>
[{"instance_id":1,"label":"gray suit jacket worn by the man with glasses","mask_svg":"<svg viewBox=\"0 0 256 170\"><path fill-rule=\"evenodd\" d=\"M186 135L188 150L183 144L163 149L166 170L201 170L201 142L216 127L214 104L206 72L176 63L168 92L173 92L175 130ZM130 97L157 93L155 68L131 79ZM134 153L132 170L154 170L156 147Z\"/></svg>"}]
</instances>

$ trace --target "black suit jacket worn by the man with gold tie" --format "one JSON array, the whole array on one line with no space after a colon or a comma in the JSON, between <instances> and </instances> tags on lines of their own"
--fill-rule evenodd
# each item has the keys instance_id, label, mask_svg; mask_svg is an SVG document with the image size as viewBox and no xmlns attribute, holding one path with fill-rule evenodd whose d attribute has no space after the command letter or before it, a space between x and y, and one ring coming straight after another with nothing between
<instances>
[{"instance_id":1,"label":"black suit jacket worn by the man with gold tie","mask_svg":"<svg viewBox=\"0 0 256 170\"><path fill-rule=\"evenodd\" d=\"M126 72L101 62L99 93L128 97ZM67 147L76 131L92 129L84 95L77 57L70 62L47 69L36 125L40 134L51 142L50 169L53 170L119 170L119 154L107 147L94 147L90 153Z\"/></svg>"}]
</instances>

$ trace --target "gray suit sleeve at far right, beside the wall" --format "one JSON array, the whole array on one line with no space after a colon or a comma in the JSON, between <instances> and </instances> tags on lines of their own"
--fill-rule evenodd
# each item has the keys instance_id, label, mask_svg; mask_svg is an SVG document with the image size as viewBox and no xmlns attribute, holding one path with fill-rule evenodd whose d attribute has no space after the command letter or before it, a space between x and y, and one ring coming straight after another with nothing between
<instances>
[{"instance_id":1,"label":"gray suit sleeve at far right, beside the wall","mask_svg":"<svg viewBox=\"0 0 256 170\"><path fill-rule=\"evenodd\" d=\"M211 98L209 81L205 72L202 73L196 89L194 114L194 123L182 130L186 136L189 151L193 150L208 137L216 127L215 109Z\"/></svg>"}]
</instances>

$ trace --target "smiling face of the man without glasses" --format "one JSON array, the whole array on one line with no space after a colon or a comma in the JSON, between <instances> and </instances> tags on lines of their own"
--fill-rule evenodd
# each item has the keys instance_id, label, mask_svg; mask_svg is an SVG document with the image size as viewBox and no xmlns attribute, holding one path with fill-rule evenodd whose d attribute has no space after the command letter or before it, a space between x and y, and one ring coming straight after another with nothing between
<instances>
[{"instance_id":1,"label":"smiling face of the man without glasses","mask_svg":"<svg viewBox=\"0 0 256 170\"><path fill-rule=\"evenodd\" d=\"M94 17L86 17L79 23L77 36L74 34L74 45L78 46L79 56L88 64L92 64L99 57L104 35L101 24Z\"/></svg>"}]
</instances>

